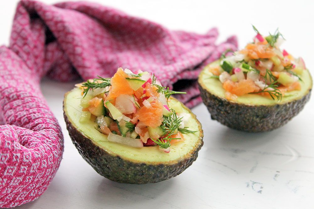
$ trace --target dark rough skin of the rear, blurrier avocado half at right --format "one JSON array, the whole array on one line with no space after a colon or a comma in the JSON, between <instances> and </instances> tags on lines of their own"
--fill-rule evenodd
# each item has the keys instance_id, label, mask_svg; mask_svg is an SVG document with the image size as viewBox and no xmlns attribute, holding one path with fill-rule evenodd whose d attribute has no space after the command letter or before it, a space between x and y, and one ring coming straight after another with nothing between
<instances>
[{"instance_id":1,"label":"dark rough skin of the rear, blurrier avocado half at right","mask_svg":"<svg viewBox=\"0 0 314 209\"><path fill-rule=\"evenodd\" d=\"M310 89L301 99L292 102L257 106L228 101L211 94L200 83L198 86L211 119L230 128L246 132L265 132L283 126L303 109L311 96Z\"/></svg>"}]
</instances>

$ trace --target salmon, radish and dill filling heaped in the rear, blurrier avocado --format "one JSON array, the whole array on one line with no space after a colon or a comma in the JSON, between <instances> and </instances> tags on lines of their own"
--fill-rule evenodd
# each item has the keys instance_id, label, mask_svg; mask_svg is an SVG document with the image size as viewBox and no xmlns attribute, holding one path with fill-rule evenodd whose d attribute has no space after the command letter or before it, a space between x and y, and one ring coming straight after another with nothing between
<instances>
[{"instance_id":1,"label":"salmon, radish and dill filling heaped in the rear, blurrier avocado","mask_svg":"<svg viewBox=\"0 0 314 209\"><path fill-rule=\"evenodd\" d=\"M306 69L302 58L295 59L286 50L280 50L283 43L282 34L262 36L257 33L253 42L243 50L233 52L226 50L218 65L213 65L209 71L210 78L217 78L223 84L225 97L236 101L238 96L245 94L260 94L273 100L281 101L287 91L300 90L300 76Z\"/></svg>"}]
</instances>

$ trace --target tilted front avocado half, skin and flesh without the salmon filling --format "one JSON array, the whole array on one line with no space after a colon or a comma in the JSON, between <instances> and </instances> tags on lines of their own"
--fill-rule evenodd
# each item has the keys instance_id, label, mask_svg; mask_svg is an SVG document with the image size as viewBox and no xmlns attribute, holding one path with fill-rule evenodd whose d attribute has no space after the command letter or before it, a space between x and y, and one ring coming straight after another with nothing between
<instances>
[{"instance_id":1,"label":"tilted front avocado half, skin and flesh without the salmon filling","mask_svg":"<svg viewBox=\"0 0 314 209\"><path fill-rule=\"evenodd\" d=\"M81 90L74 88L64 96L63 115L70 138L79 154L100 175L120 183L145 184L170 179L181 174L198 157L203 146L203 130L196 116L191 114L188 127L196 133L183 134L185 140L171 145L170 153L158 146L133 148L109 142L107 136L95 129L95 122L80 123ZM174 98L170 100L177 101Z\"/></svg>"}]
</instances>

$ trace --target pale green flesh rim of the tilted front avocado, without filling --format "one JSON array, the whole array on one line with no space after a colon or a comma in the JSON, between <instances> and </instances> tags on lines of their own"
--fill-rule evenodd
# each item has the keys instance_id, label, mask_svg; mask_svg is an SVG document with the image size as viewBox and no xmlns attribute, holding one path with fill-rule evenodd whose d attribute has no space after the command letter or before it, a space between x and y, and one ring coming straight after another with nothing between
<instances>
[{"instance_id":1,"label":"pale green flesh rim of the tilted front avocado, without filling","mask_svg":"<svg viewBox=\"0 0 314 209\"><path fill-rule=\"evenodd\" d=\"M188 127L190 130L196 130L196 133L184 134L185 140L171 145L171 152L165 153L160 151L159 146L150 146L143 148L133 148L122 144L109 142L107 136L100 133L95 128L95 122L88 121L87 123L80 123L79 118L82 112L82 107L79 105L82 98L81 90L78 88L70 91L64 101L64 111L71 124L86 138L89 138L95 145L105 150L111 155L118 155L122 159L138 163L151 163L151 164L174 164L180 159L186 158L187 154L197 149L199 146L200 136L203 134L199 130L199 123L196 118L191 117L188 121ZM171 104L175 102L171 100ZM183 108L184 112L190 113L186 108Z\"/></svg>"}]
</instances>

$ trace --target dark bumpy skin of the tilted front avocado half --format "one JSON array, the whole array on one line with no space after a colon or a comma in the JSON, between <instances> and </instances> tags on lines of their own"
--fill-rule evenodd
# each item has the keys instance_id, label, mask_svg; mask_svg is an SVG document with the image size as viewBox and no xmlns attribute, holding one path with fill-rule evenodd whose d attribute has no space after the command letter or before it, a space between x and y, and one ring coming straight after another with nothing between
<instances>
[{"instance_id":1,"label":"dark bumpy skin of the tilted front avocado half","mask_svg":"<svg viewBox=\"0 0 314 209\"><path fill-rule=\"evenodd\" d=\"M194 116L192 112L190 113ZM122 159L120 156L111 155L104 149L101 149L71 124L65 111L63 112L63 116L67 124L70 138L83 159L91 165L98 174L119 183L156 183L175 177L192 165L198 157L198 151L203 146L203 130L201 124L198 122L201 132L199 144L192 153L186 155L186 158L172 165L136 163Z\"/></svg>"}]
</instances>

